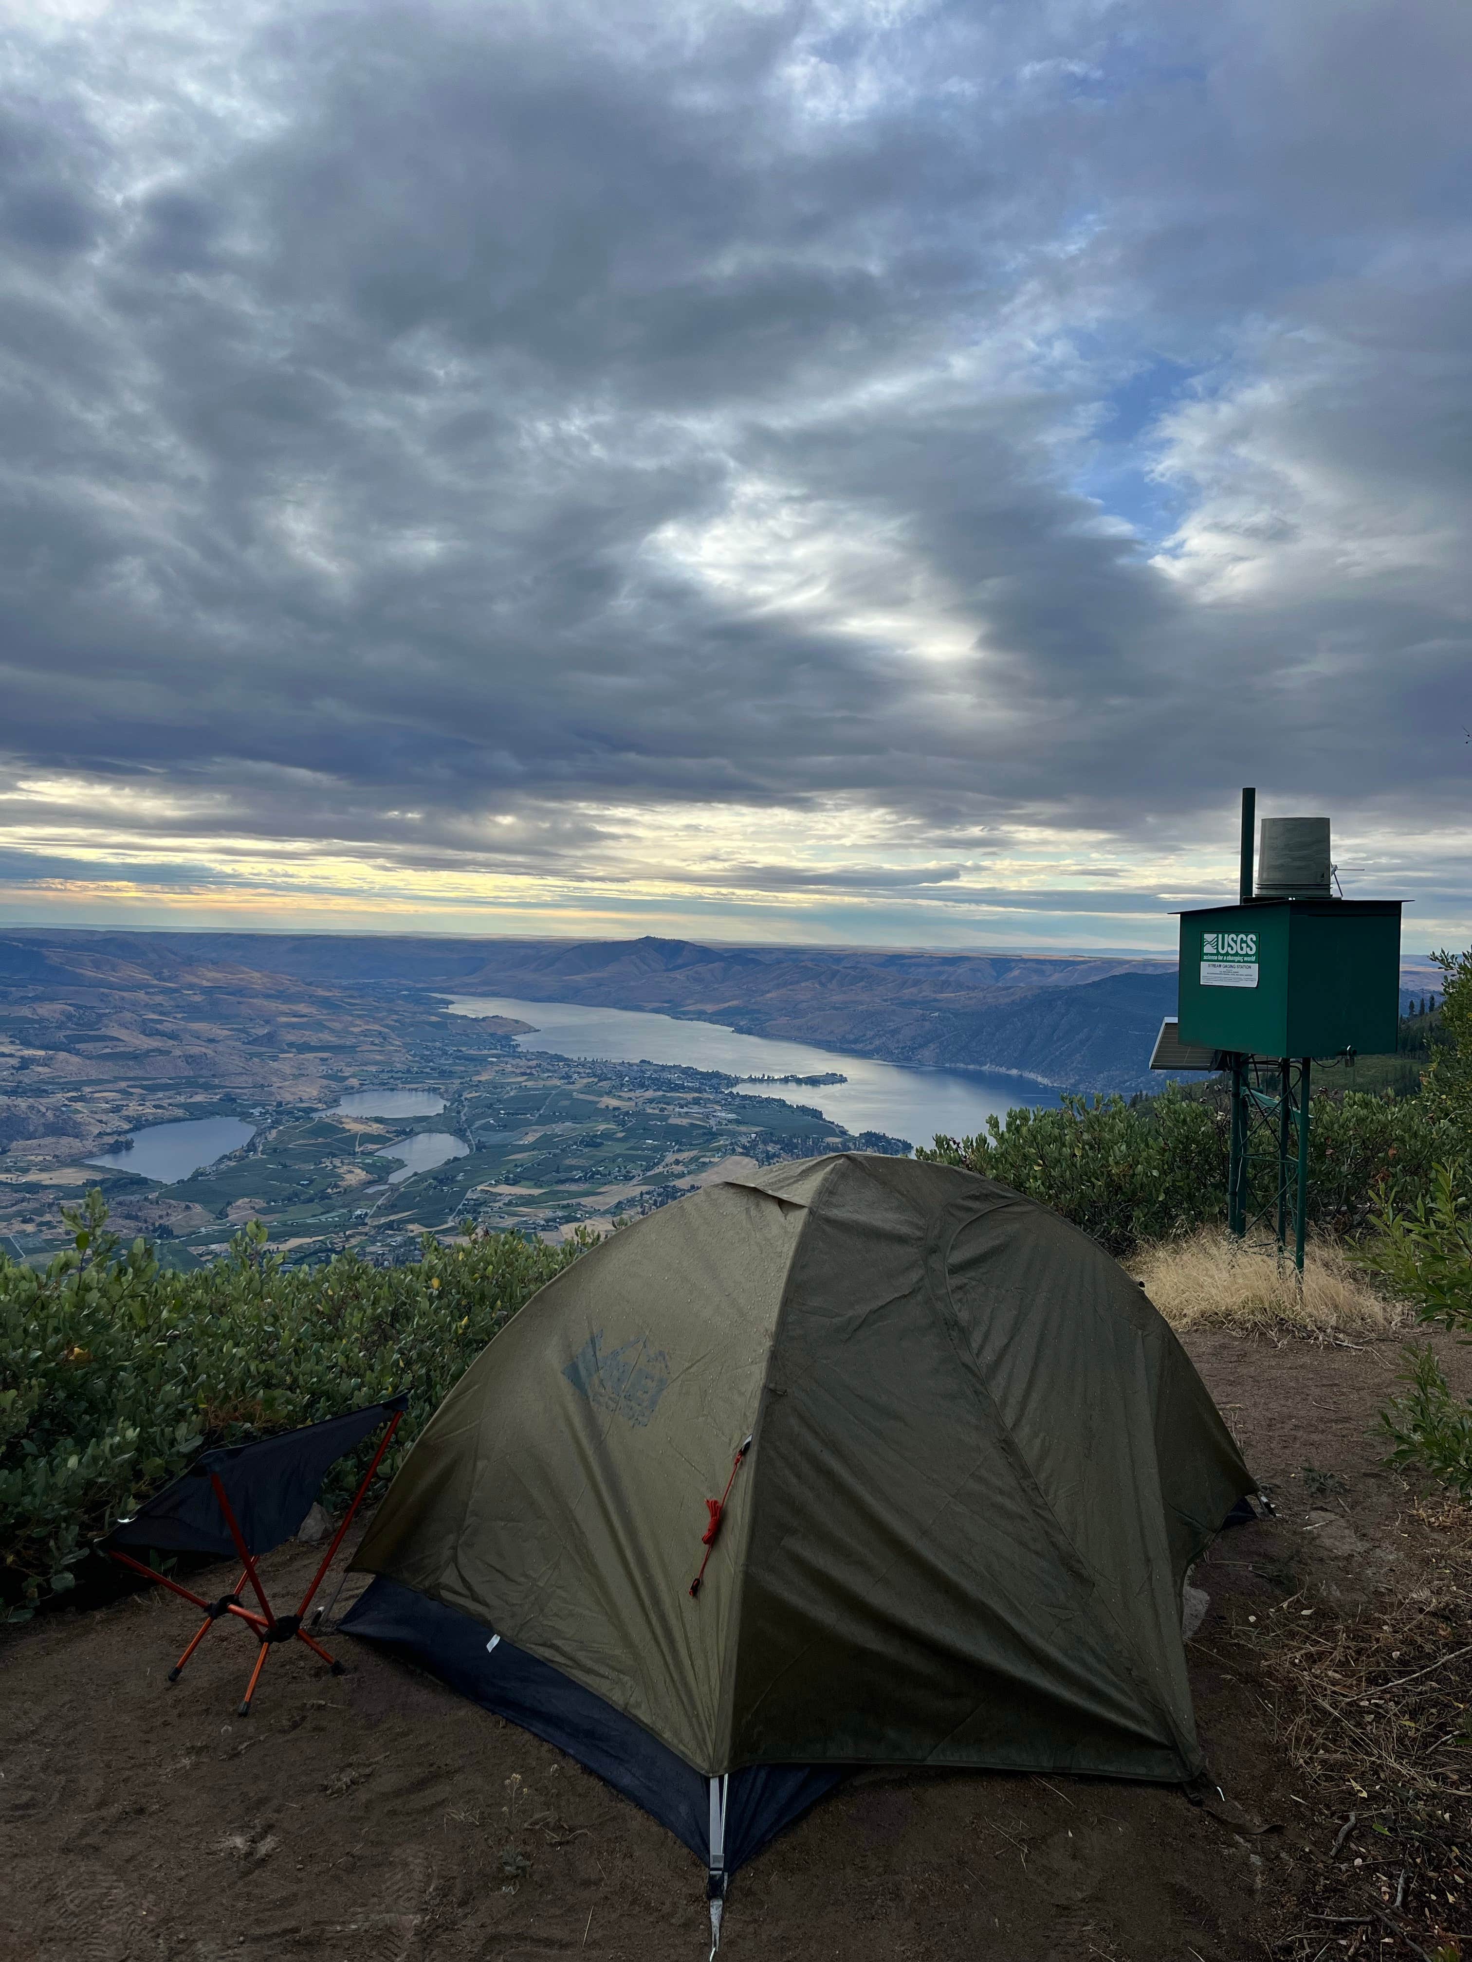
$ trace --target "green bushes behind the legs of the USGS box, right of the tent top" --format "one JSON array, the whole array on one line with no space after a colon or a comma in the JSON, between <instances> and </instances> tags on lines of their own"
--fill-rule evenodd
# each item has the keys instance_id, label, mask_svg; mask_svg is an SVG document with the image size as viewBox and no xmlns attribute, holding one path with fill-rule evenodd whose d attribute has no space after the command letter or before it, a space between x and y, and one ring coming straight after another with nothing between
<instances>
[{"instance_id":1,"label":"green bushes behind the legs of the USGS box, right of the tent top","mask_svg":"<svg viewBox=\"0 0 1472 1962\"><path fill-rule=\"evenodd\" d=\"M1321 1091L1309 1110L1309 1222L1352 1232L1376 1207L1427 1189L1450 1144L1446 1120L1415 1097ZM1223 1093L1064 1097L1060 1109L989 1116L975 1138L936 1138L919 1158L968 1165L1127 1254L1227 1220L1229 1118Z\"/></svg>"}]
</instances>

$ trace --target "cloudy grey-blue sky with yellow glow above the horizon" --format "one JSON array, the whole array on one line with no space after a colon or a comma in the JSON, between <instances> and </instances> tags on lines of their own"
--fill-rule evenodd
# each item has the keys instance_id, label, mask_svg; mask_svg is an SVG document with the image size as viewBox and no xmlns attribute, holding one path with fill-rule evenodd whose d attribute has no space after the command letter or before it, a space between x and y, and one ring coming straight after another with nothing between
<instances>
[{"instance_id":1,"label":"cloudy grey-blue sky with yellow glow above the horizon","mask_svg":"<svg viewBox=\"0 0 1472 1962\"><path fill-rule=\"evenodd\" d=\"M0 0L0 918L1472 938L1466 0Z\"/></svg>"}]
</instances>

